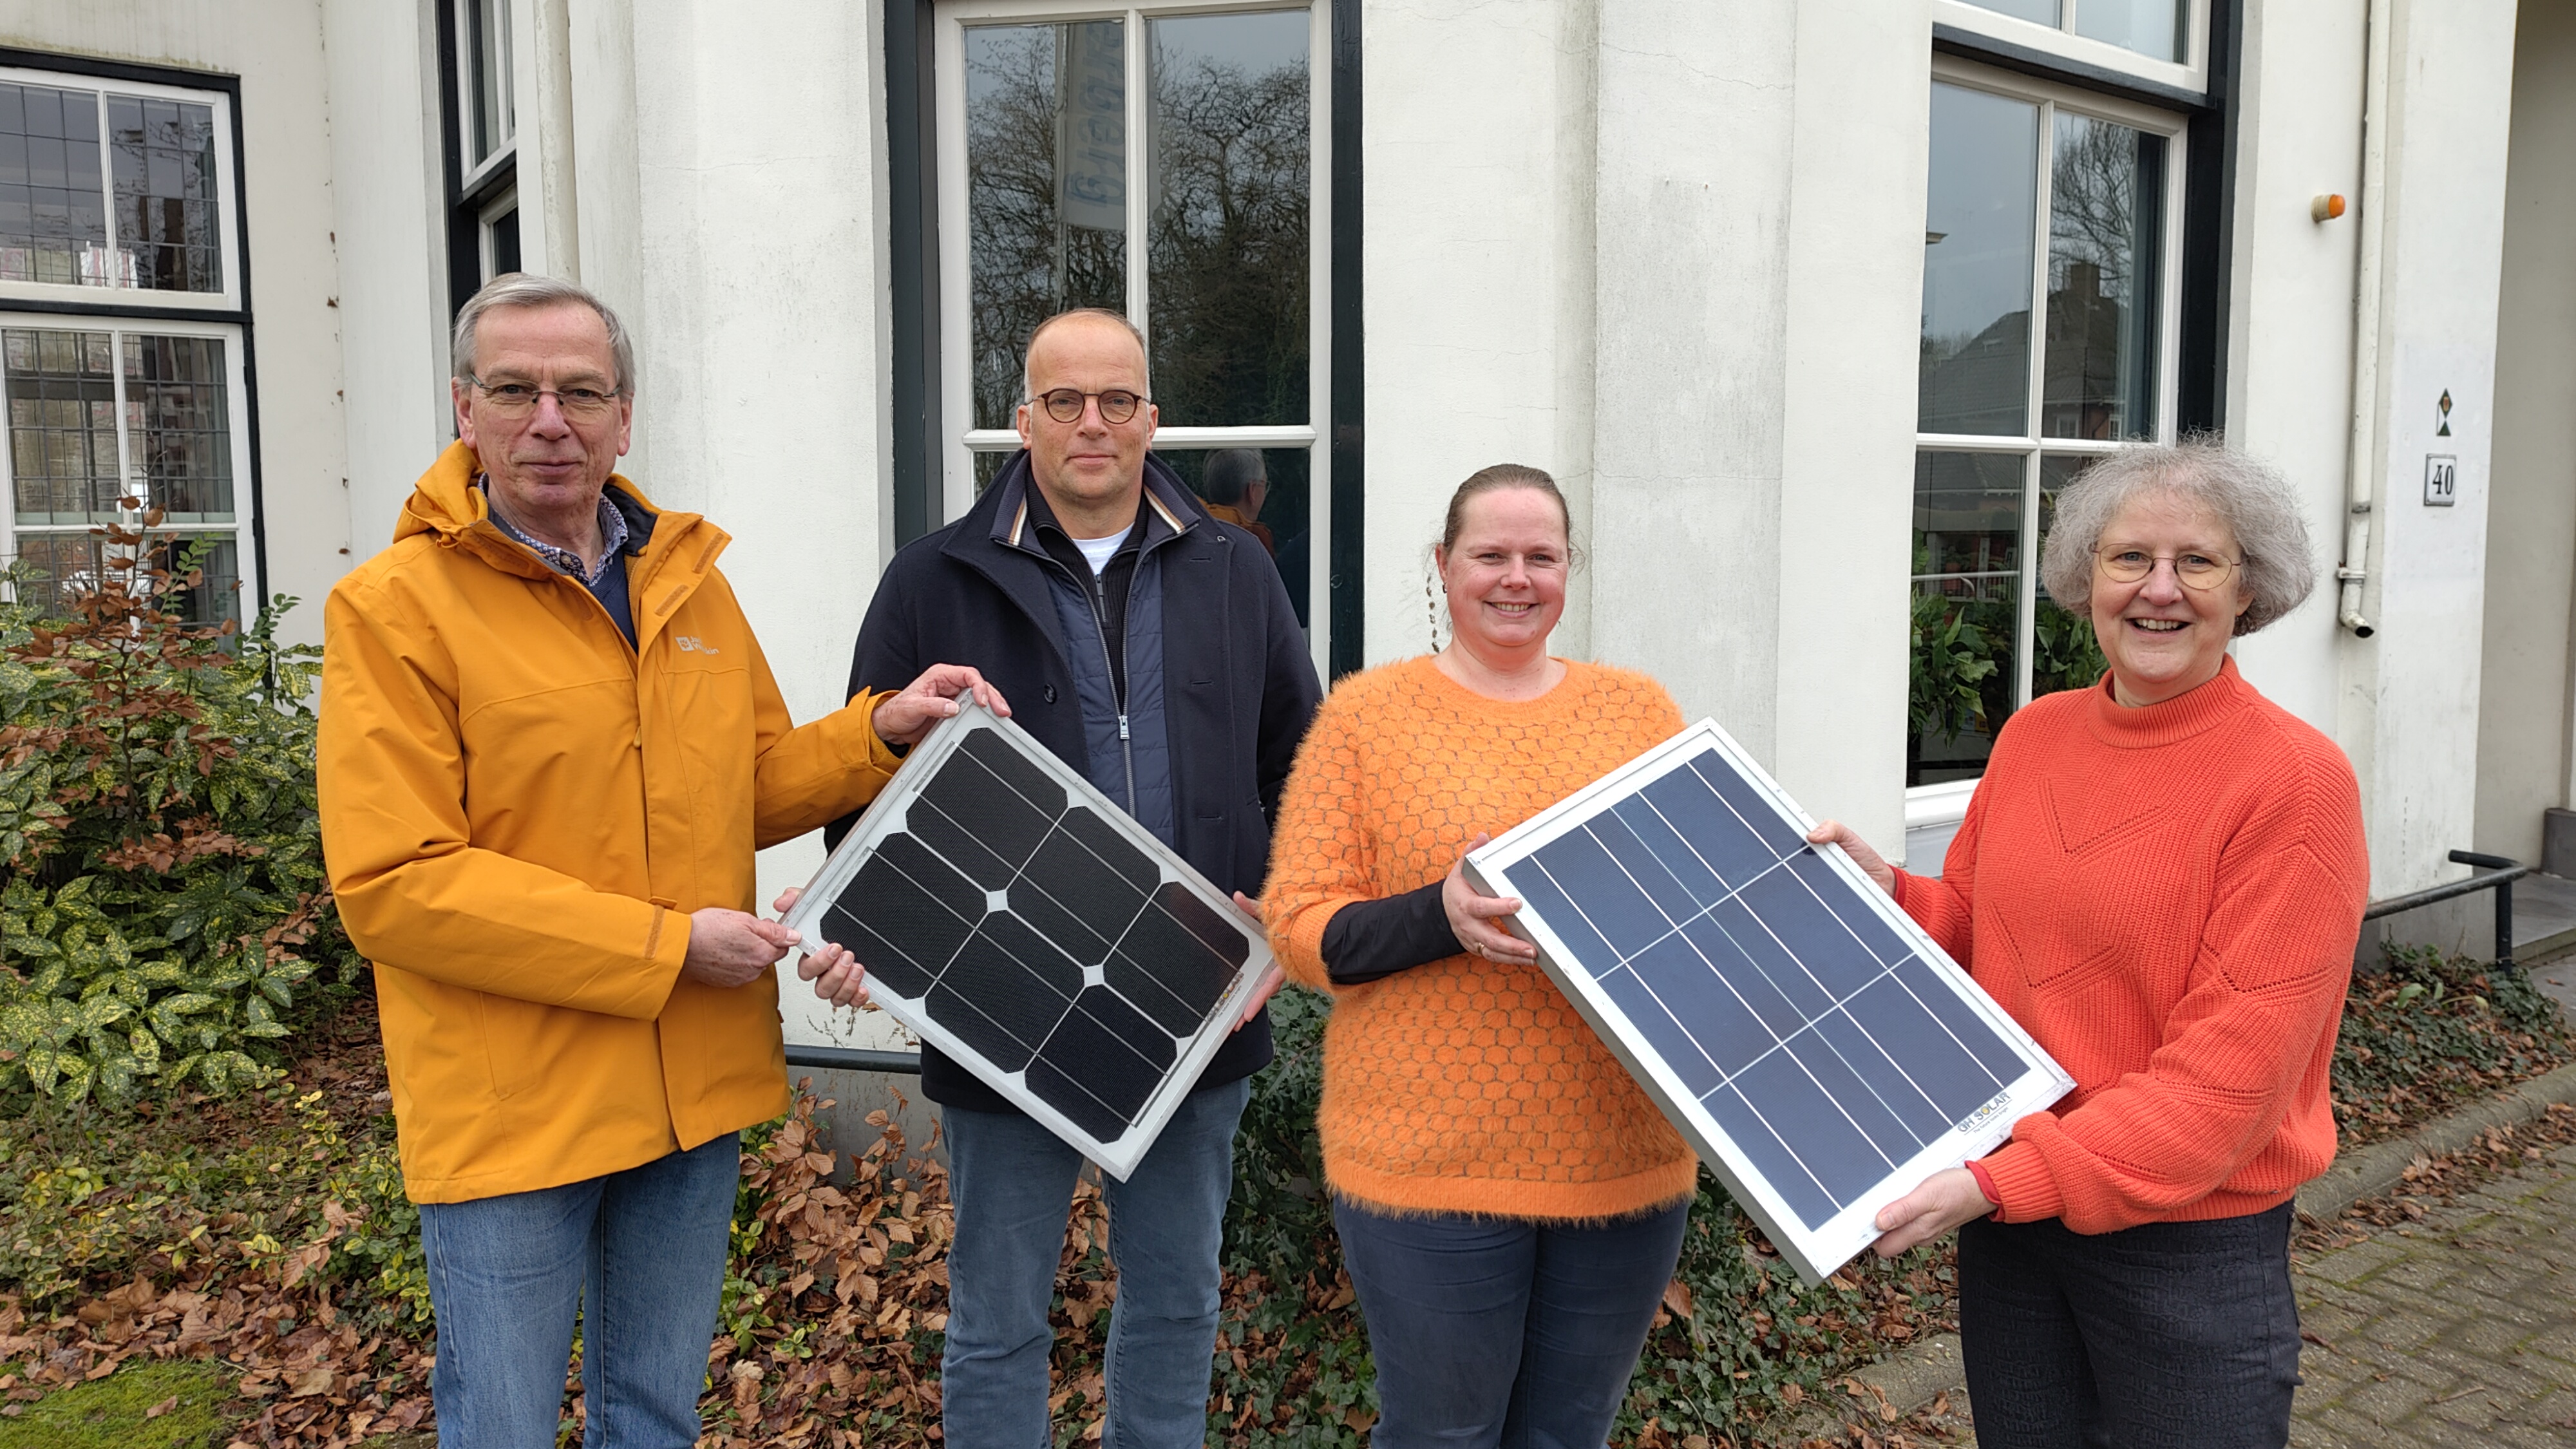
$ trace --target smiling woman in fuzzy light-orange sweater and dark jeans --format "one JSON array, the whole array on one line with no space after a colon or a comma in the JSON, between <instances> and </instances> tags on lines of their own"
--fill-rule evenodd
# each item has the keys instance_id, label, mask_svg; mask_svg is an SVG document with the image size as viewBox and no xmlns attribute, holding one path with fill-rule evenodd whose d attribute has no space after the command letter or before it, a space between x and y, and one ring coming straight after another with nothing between
<instances>
[{"instance_id":1,"label":"smiling woman in fuzzy light-orange sweater and dark jeans","mask_svg":"<svg viewBox=\"0 0 2576 1449\"><path fill-rule=\"evenodd\" d=\"M1378 1449L1602 1444L1682 1248L1690 1147L1461 874L1682 727L1654 681L1548 657L1569 552L1548 474L1466 480L1455 637L1334 686L1280 799L1270 944L1334 998L1319 1127Z\"/></svg>"}]
</instances>

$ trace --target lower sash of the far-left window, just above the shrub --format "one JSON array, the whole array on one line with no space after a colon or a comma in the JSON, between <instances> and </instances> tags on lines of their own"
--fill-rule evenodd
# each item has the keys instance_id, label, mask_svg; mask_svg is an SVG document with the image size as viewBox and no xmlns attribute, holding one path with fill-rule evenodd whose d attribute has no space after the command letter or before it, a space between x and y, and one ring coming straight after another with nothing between
<instances>
[{"instance_id":1,"label":"lower sash of the far-left window, just above the shrub","mask_svg":"<svg viewBox=\"0 0 2576 1449\"><path fill-rule=\"evenodd\" d=\"M98 529L131 529L160 508L162 547L201 544L204 585L185 598L185 614L201 624L240 619L245 443L234 335L178 322L62 322L0 320L21 598L33 590L59 608L98 578L108 549Z\"/></svg>"}]
</instances>

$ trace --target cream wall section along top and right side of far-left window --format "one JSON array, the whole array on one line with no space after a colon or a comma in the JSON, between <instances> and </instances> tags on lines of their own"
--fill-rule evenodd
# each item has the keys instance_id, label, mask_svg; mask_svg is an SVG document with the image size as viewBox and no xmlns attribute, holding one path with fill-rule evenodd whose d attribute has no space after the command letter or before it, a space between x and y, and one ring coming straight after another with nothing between
<instances>
[{"instance_id":1,"label":"cream wall section along top and right side of far-left window","mask_svg":"<svg viewBox=\"0 0 2576 1449\"><path fill-rule=\"evenodd\" d=\"M348 567L340 480L340 312L322 10L296 0L13 0L0 44L242 77L252 348L268 593L304 598L291 639L322 637L322 596ZM242 480L247 490L247 480ZM250 539L242 539L245 565Z\"/></svg>"}]
</instances>

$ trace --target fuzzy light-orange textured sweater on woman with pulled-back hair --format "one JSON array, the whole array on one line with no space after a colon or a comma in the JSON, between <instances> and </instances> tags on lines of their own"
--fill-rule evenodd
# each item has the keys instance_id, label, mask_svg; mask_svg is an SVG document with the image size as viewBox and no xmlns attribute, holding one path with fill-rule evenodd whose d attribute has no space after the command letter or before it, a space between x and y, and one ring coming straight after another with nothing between
<instances>
[{"instance_id":1,"label":"fuzzy light-orange textured sweater on woman with pulled-back hair","mask_svg":"<svg viewBox=\"0 0 2576 1449\"><path fill-rule=\"evenodd\" d=\"M1365 985L1324 972L1324 926L1437 882L1682 727L1659 683L1569 663L1533 701L1484 699L1430 657L1334 686L1298 748L1270 848L1270 944L1329 990L1324 1176L1396 1212L1620 1217L1692 1191L1695 1163L1535 964L1468 954Z\"/></svg>"}]
</instances>

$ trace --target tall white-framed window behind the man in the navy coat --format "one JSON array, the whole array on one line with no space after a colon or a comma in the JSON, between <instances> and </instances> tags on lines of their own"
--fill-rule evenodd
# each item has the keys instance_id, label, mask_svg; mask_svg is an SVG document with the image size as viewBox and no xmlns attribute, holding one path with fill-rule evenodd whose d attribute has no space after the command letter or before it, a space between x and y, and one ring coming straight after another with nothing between
<instances>
[{"instance_id":1,"label":"tall white-framed window behind the man in the navy coat","mask_svg":"<svg viewBox=\"0 0 2576 1449\"><path fill-rule=\"evenodd\" d=\"M1066 307L1123 312L1149 345L1157 454L1257 523L1316 668L1332 498L1324 54L1327 5L938 8L945 516L1020 446L1030 327Z\"/></svg>"}]
</instances>

